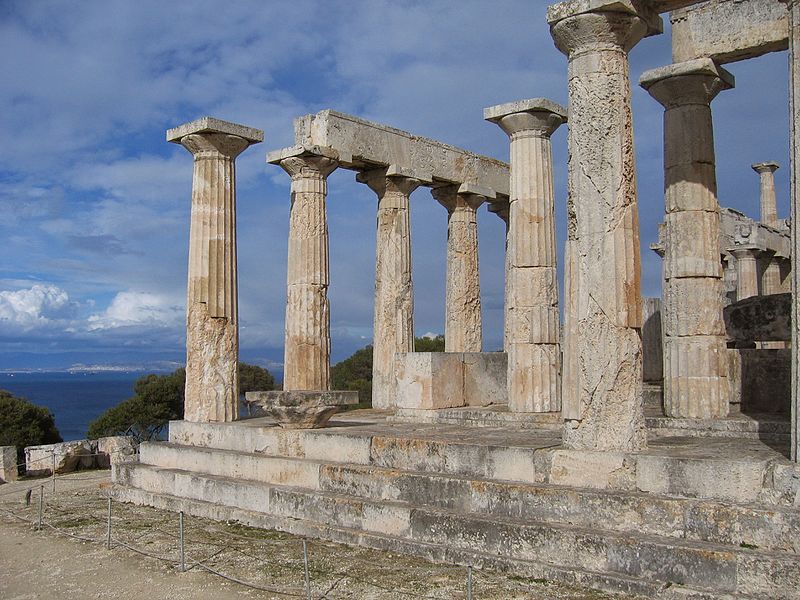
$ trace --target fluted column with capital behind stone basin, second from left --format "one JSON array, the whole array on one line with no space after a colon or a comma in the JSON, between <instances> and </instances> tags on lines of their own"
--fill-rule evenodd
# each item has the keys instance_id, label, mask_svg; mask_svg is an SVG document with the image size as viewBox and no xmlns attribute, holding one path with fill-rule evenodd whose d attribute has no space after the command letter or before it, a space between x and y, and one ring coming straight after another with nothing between
<instances>
[{"instance_id":1,"label":"fluted column with capital behind stone basin, second from left","mask_svg":"<svg viewBox=\"0 0 800 600\"><path fill-rule=\"evenodd\" d=\"M292 178L286 276L284 391L331 388L327 178L337 154L290 148L268 156Z\"/></svg>"}]
</instances>

